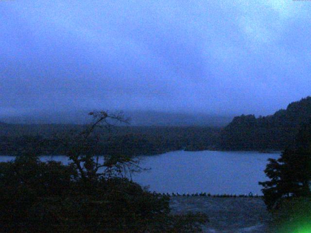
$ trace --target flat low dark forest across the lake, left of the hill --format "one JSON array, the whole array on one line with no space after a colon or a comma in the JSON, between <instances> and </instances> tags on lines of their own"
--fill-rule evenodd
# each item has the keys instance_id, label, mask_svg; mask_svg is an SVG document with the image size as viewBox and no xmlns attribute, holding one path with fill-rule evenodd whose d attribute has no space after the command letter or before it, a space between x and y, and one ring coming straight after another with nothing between
<instances>
[{"instance_id":1,"label":"flat low dark forest across the lake, left of the hill","mask_svg":"<svg viewBox=\"0 0 311 233\"><path fill-rule=\"evenodd\" d=\"M40 128L39 128L40 127ZM64 141L55 135L74 131L82 132L86 126L35 125L33 130L26 125L0 126L0 154L19 155L29 148L36 154L65 154ZM90 148L97 154L126 153L131 155L153 155L172 150L207 150L217 144L219 129L208 127L130 127L112 126L102 131L101 140L89 138ZM65 139L63 139L65 140Z\"/></svg>"}]
</instances>

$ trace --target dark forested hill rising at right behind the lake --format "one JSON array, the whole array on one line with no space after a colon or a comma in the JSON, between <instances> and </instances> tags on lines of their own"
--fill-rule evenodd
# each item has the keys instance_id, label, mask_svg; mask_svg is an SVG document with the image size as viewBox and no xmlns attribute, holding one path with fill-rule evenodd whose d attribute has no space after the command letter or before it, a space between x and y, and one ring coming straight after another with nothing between
<instances>
[{"instance_id":1,"label":"dark forested hill rising at right behind the lake","mask_svg":"<svg viewBox=\"0 0 311 233\"><path fill-rule=\"evenodd\" d=\"M223 150L283 150L294 143L299 129L311 123L311 97L292 102L274 115L233 118L220 136Z\"/></svg>"}]
</instances>

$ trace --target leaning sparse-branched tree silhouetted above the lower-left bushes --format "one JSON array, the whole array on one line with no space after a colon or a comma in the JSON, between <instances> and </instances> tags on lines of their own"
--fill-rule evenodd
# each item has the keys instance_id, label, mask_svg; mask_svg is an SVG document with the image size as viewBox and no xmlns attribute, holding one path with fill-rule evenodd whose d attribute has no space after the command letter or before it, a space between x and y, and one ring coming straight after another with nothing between
<instances>
[{"instance_id":1,"label":"leaning sparse-branched tree silhouetted above the lower-left bushes","mask_svg":"<svg viewBox=\"0 0 311 233\"><path fill-rule=\"evenodd\" d=\"M103 140L110 139L110 136L103 138L105 131L110 132L117 124L128 124L129 119L124 117L122 112L111 114L106 111L94 111L88 115L92 116L92 122L81 132L71 131L65 138L61 138L66 144L65 153L81 178L90 180L100 176L124 177L127 174L132 178L132 172L142 170L139 160L132 156L116 153L100 155L100 150L96 150Z\"/></svg>"}]
</instances>

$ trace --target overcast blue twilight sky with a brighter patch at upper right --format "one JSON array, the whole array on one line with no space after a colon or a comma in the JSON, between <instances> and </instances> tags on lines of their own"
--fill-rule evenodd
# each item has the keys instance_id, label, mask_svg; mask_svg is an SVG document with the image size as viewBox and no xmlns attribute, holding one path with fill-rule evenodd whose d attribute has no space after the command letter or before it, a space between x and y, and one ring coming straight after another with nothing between
<instances>
[{"instance_id":1,"label":"overcast blue twilight sky with a brighter patch at upper right","mask_svg":"<svg viewBox=\"0 0 311 233\"><path fill-rule=\"evenodd\" d=\"M311 1L0 0L0 115L273 114L311 95Z\"/></svg>"}]
</instances>

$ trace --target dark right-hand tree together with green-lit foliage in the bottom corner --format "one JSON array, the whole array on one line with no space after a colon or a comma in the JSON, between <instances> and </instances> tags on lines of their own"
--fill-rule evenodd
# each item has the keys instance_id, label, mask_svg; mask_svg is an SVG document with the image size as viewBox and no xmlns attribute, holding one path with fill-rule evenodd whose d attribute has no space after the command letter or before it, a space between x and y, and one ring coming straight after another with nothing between
<instances>
[{"instance_id":1,"label":"dark right-hand tree together with green-lit foliage in the bottom corner","mask_svg":"<svg viewBox=\"0 0 311 233\"><path fill-rule=\"evenodd\" d=\"M264 201L273 213L275 232L311 232L311 125L301 127L295 143L279 159L269 159Z\"/></svg>"}]
</instances>

